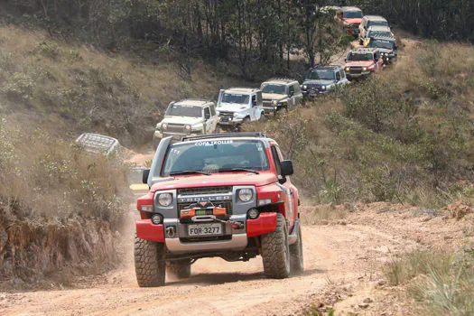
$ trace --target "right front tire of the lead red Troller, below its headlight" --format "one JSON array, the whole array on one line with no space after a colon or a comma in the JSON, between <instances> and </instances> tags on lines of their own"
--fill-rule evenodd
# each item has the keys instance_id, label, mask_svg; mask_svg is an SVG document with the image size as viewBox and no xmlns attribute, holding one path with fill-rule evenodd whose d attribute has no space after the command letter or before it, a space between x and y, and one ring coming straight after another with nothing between
<instances>
[{"instance_id":1,"label":"right front tire of the lead red Troller, below its headlight","mask_svg":"<svg viewBox=\"0 0 474 316\"><path fill-rule=\"evenodd\" d=\"M267 277L284 279L290 275L288 227L282 214L276 214L276 229L261 237L264 272Z\"/></svg>"}]
</instances>

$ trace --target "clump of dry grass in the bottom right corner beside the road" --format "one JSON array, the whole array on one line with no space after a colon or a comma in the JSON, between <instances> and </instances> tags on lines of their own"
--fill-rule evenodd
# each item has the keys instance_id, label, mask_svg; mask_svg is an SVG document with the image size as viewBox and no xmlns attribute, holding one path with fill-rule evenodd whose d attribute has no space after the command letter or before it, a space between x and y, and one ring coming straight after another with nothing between
<instances>
[{"instance_id":1,"label":"clump of dry grass in the bottom right corner beside the road","mask_svg":"<svg viewBox=\"0 0 474 316\"><path fill-rule=\"evenodd\" d=\"M406 285L408 295L426 315L474 313L474 253L414 250L384 269L392 285Z\"/></svg>"}]
</instances>

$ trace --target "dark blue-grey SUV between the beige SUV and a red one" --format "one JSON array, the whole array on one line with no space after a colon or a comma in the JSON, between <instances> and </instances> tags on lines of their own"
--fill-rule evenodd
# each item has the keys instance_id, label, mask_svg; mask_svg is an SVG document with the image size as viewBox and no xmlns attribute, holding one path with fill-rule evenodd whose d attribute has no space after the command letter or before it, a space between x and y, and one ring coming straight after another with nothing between
<instances>
[{"instance_id":1,"label":"dark blue-grey SUV between the beige SUV and a red one","mask_svg":"<svg viewBox=\"0 0 474 316\"><path fill-rule=\"evenodd\" d=\"M305 97L314 98L348 83L346 71L340 66L316 66L306 72L302 92Z\"/></svg>"}]
</instances>

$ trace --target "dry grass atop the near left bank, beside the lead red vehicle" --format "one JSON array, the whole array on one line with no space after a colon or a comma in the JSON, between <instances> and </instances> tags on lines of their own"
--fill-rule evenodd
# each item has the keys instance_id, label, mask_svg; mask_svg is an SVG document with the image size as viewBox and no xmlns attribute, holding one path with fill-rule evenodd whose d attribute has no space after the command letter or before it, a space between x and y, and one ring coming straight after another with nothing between
<instances>
[{"instance_id":1,"label":"dry grass atop the near left bank, beside the lead red vehicle","mask_svg":"<svg viewBox=\"0 0 474 316\"><path fill-rule=\"evenodd\" d=\"M126 167L40 129L0 121L0 223L85 218L119 225Z\"/></svg>"}]
</instances>

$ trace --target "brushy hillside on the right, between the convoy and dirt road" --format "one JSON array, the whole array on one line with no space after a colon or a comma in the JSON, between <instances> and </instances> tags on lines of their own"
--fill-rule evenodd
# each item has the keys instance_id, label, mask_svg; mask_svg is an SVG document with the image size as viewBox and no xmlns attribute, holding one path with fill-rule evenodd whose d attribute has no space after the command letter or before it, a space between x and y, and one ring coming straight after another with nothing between
<instances>
[{"instance_id":1,"label":"brushy hillside on the right, between the convoy and dirt road","mask_svg":"<svg viewBox=\"0 0 474 316\"><path fill-rule=\"evenodd\" d=\"M408 42L394 67L265 126L317 203L474 202L474 50ZM462 60L453 64L451 60Z\"/></svg>"}]
</instances>

